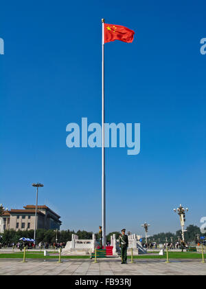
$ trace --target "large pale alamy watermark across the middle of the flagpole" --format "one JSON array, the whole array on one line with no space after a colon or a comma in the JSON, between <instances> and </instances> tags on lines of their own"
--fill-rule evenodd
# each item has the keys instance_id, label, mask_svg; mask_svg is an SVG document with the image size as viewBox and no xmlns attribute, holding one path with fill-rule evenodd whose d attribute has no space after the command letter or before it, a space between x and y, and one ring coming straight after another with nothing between
<instances>
[{"instance_id":1,"label":"large pale alamy watermark across the middle of the flagpole","mask_svg":"<svg viewBox=\"0 0 206 289\"><path fill-rule=\"evenodd\" d=\"M87 118L82 118L81 125L81 128L76 122L67 125L67 147L102 147L102 126L98 122L88 125ZM128 147L130 156L140 151L140 123L104 123L104 135L104 147Z\"/></svg>"}]
</instances>

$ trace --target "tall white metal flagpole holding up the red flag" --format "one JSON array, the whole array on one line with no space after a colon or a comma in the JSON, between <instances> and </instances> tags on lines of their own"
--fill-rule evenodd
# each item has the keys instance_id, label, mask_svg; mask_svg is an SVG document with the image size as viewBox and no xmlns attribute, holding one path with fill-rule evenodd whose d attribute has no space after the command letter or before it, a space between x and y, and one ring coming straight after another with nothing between
<instances>
[{"instance_id":1,"label":"tall white metal flagpole holding up the red flag","mask_svg":"<svg viewBox=\"0 0 206 289\"><path fill-rule=\"evenodd\" d=\"M105 132L104 132L104 19L102 19L102 245L106 246Z\"/></svg>"}]
</instances>

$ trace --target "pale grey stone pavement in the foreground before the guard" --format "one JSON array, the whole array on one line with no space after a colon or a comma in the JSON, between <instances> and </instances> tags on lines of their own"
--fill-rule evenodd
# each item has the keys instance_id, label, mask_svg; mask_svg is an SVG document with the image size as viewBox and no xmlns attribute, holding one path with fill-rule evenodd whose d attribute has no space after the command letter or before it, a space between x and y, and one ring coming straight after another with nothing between
<instances>
[{"instance_id":1,"label":"pale grey stone pavement in the foreground before the guard","mask_svg":"<svg viewBox=\"0 0 206 289\"><path fill-rule=\"evenodd\" d=\"M199 260L135 259L134 264L120 264L120 258L56 260L0 259L0 275L206 275L206 263Z\"/></svg>"}]
</instances>

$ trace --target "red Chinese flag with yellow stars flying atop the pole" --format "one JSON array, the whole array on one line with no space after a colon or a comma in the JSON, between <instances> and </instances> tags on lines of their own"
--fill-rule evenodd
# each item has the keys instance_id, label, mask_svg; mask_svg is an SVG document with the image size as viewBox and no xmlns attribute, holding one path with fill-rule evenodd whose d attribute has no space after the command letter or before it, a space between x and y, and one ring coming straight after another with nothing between
<instances>
[{"instance_id":1,"label":"red Chinese flag with yellow stars flying atop the pole","mask_svg":"<svg viewBox=\"0 0 206 289\"><path fill-rule=\"evenodd\" d=\"M127 43L133 42L135 32L121 25L104 23L104 43L120 40Z\"/></svg>"}]
</instances>

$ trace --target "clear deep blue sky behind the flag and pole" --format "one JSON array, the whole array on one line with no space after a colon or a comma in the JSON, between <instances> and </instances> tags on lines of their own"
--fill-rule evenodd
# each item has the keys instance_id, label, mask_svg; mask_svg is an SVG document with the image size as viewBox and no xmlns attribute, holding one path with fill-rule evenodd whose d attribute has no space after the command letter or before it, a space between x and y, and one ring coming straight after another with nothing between
<instances>
[{"instance_id":1,"label":"clear deep blue sky behind the flag and pole","mask_svg":"<svg viewBox=\"0 0 206 289\"><path fill-rule=\"evenodd\" d=\"M106 122L140 122L141 152L106 149L106 233L179 229L205 207L205 1L3 1L0 202L35 203L62 229L98 231L101 149L69 149L66 126L101 123L101 19L135 31L105 45Z\"/></svg>"}]
</instances>

